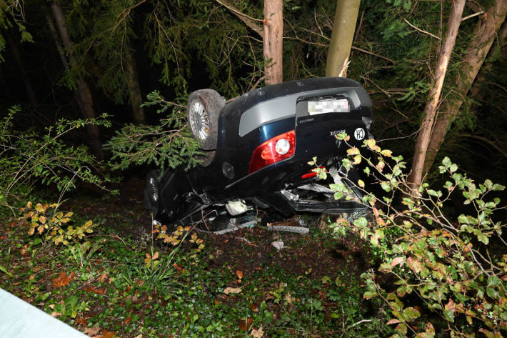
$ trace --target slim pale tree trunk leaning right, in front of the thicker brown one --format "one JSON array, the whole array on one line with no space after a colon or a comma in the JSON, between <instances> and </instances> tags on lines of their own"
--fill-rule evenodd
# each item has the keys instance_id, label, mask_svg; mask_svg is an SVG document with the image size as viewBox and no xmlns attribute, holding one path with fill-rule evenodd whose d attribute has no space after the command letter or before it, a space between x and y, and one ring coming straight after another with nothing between
<instances>
[{"instance_id":1,"label":"slim pale tree trunk leaning right, in front of the thicker brown one","mask_svg":"<svg viewBox=\"0 0 507 338\"><path fill-rule=\"evenodd\" d=\"M443 49L436 61L435 82L428 94L428 102L424 107L421 130L419 131L416 150L413 154L412 170L408 177L408 183L411 184L413 189L417 189L423 182L423 174L425 174L425 172L423 172L424 162L428 151L428 144L431 139L431 133L433 131L433 123L436 118L436 109L440 101L443 79L446 77L447 66L449 64L449 59L451 59L451 52L456 42L456 36L458 36L458 29L461 24L461 16L463 15L465 2L466 0L455 0L453 3L451 16L447 24L446 39L443 41Z\"/></svg>"}]
</instances>

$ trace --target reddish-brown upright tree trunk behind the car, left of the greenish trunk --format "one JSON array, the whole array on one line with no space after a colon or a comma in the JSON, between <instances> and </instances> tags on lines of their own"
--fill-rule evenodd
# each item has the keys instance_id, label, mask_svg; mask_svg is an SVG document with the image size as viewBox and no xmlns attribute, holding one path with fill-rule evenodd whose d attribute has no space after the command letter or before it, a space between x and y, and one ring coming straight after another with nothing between
<instances>
[{"instance_id":1,"label":"reddish-brown upright tree trunk behind the car, left of the greenish trunk","mask_svg":"<svg viewBox=\"0 0 507 338\"><path fill-rule=\"evenodd\" d=\"M283 1L264 0L263 54L266 84L283 81Z\"/></svg>"}]
</instances>

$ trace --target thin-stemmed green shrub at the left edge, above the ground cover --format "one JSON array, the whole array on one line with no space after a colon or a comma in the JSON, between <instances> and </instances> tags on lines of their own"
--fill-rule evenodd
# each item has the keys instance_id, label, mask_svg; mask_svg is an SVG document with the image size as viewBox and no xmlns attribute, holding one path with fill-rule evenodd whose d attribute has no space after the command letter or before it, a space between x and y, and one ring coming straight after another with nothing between
<instances>
[{"instance_id":1,"label":"thin-stemmed green shrub at the left edge, above the ground cover","mask_svg":"<svg viewBox=\"0 0 507 338\"><path fill-rule=\"evenodd\" d=\"M36 183L53 184L62 194L73 189L76 180L105 189L110 179L98 174L99 162L86 146L66 144L64 136L89 124L109 126L106 114L96 119L59 119L36 132L14 128L19 110L14 106L0 120L1 206L11 207L16 199L32 192Z\"/></svg>"}]
</instances>

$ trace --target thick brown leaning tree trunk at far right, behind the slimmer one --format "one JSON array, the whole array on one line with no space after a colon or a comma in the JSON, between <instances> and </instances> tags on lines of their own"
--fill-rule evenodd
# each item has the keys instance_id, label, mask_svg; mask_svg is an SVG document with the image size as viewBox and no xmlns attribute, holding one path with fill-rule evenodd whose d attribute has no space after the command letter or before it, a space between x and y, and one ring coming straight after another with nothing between
<instances>
[{"instance_id":1,"label":"thick brown leaning tree trunk at far right, behind the slimmer one","mask_svg":"<svg viewBox=\"0 0 507 338\"><path fill-rule=\"evenodd\" d=\"M500 29L503 21L506 19L506 14L507 0L496 0L477 24L476 33L473 35L471 44L468 46L466 55L463 58L461 71L458 71L456 81L453 81L457 86L455 90L456 96L446 102L445 110L438 116L433 129L433 136L428 145L428 156L423 168L424 173L429 172L433 161L435 161L436 154L446 137L448 128L454 119L456 119L471 85L476 79L478 71L481 69L488 51L491 49L498 29Z\"/></svg>"}]
</instances>

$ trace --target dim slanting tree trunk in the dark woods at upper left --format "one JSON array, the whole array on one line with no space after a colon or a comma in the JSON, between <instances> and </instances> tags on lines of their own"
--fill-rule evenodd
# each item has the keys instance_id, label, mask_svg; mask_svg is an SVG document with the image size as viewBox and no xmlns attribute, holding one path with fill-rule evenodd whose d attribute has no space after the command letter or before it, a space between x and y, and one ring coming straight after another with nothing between
<instances>
[{"instance_id":1,"label":"dim slanting tree trunk in the dark woods at upper left","mask_svg":"<svg viewBox=\"0 0 507 338\"><path fill-rule=\"evenodd\" d=\"M56 26L58 26L58 30L60 32L61 41L63 42L69 56L69 64L74 64L74 56L72 56L72 44L71 40L69 39L69 32L67 31L65 24L64 13L61 10L61 7L57 4L51 4L51 10L53 11ZM91 92L88 84L86 84L86 81L84 81L82 76L77 77L76 84L77 96L79 98L78 104L79 108L81 109L81 113L86 119L94 119L96 117L94 111L94 101L91 97ZM98 159L103 159L104 156L102 154L99 127L95 124L87 124L86 133L89 137L91 151L93 151Z\"/></svg>"}]
</instances>

